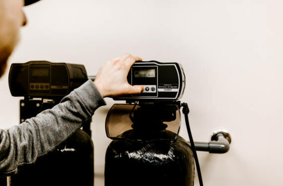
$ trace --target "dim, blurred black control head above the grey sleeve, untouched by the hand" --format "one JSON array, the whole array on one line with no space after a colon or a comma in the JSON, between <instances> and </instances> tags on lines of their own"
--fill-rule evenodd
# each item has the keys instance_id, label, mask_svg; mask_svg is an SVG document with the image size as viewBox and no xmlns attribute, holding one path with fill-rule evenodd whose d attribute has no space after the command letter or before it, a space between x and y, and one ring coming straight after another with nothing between
<instances>
[{"instance_id":1,"label":"dim, blurred black control head above the grey sleeve, untouched by the hand","mask_svg":"<svg viewBox=\"0 0 283 186\"><path fill-rule=\"evenodd\" d=\"M81 64L29 61L13 63L9 71L12 96L64 97L87 80Z\"/></svg>"}]
</instances>

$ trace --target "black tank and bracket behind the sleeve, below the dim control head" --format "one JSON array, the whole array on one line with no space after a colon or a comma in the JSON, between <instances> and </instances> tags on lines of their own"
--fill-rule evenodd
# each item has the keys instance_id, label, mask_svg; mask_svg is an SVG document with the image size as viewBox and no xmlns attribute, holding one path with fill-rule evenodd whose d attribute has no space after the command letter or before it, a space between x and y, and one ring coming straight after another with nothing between
<instances>
[{"instance_id":1,"label":"black tank and bracket behind the sleeve, below the dim control head","mask_svg":"<svg viewBox=\"0 0 283 186\"><path fill-rule=\"evenodd\" d=\"M21 118L30 118L55 105L39 100L21 100ZM38 106L41 105L41 106ZM90 121L84 127L90 127ZM93 186L93 142L89 130L78 130L67 141L34 164L20 167L10 186Z\"/></svg>"}]
</instances>

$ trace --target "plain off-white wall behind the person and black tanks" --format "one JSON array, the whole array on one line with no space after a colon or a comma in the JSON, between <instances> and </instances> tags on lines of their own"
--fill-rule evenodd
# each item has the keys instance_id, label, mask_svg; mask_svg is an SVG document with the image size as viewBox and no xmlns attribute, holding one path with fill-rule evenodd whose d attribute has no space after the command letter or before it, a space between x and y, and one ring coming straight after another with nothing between
<instances>
[{"instance_id":1,"label":"plain off-white wall behind the person and black tanks","mask_svg":"<svg viewBox=\"0 0 283 186\"><path fill-rule=\"evenodd\" d=\"M281 0L43 0L24 8L29 23L10 63L82 63L95 75L126 52L180 62L195 140L208 141L219 128L232 135L228 153L199 153L205 185L282 186L282 7ZM1 128L19 122L7 75ZM110 142L104 121L113 100L106 100L92 124L97 186Z\"/></svg>"}]
</instances>

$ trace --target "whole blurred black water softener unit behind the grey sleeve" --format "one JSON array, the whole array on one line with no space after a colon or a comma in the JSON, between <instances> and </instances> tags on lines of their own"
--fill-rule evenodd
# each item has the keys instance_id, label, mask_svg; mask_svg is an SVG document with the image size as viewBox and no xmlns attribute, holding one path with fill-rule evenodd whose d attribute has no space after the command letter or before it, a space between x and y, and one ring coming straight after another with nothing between
<instances>
[{"instance_id":1,"label":"whole blurred black water softener unit behind the grey sleeve","mask_svg":"<svg viewBox=\"0 0 283 186\"><path fill-rule=\"evenodd\" d=\"M29 61L12 64L9 87L20 100L20 123L52 108L60 100L88 80L83 65ZM34 164L21 167L10 177L10 186L93 186L94 148L91 121L82 130Z\"/></svg>"}]
</instances>

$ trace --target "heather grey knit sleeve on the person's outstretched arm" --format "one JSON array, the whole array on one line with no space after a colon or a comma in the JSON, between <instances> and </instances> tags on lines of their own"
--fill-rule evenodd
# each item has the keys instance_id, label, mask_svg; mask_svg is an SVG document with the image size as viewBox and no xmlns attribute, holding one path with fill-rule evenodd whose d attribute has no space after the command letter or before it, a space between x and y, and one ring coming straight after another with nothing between
<instances>
[{"instance_id":1,"label":"heather grey knit sleeve on the person's outstretched arm","mask_svg":"<svg viewBox=\"0 0 283 186\"><path fill-rule=\"evenodd\" d=\"M0 176L13 175L18 166L54 150L105 104L89 80L52 109L7 131L0 130Z\"/></svg>"}]
</instances>

